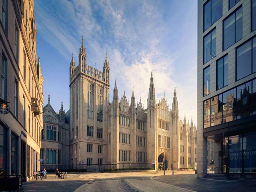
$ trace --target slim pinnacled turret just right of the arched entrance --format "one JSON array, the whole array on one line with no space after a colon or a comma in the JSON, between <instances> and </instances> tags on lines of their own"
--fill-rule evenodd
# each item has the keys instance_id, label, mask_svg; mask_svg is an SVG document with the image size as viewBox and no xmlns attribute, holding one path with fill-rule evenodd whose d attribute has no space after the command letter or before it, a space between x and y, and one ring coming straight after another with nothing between
<instances>
[{"instance_id":1,"label":"slim pinnacled turret just right of the arched entrance","mask_svg":"<svg viewBox=\"0 0 256 192\"><path fill-rule=\"evenodd\" d=\"M179 104L177 101L176 87L174 87L174 98L171 109L171 118L172 118L172 162L173 169L179 169Z\"/></svg>"}]
</instances>

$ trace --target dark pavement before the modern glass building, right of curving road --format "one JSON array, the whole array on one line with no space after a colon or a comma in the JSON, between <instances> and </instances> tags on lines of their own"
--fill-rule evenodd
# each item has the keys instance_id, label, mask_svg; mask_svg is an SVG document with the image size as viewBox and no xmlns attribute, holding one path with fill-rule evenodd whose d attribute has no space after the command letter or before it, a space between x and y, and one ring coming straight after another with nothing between
<instances>
[{"instance_id":1,"label":"dark pavement before the modern glass building, right of curving road","mask_svg":"<svg viewBox=\"0 0 256 192\"><path fill-rule=\"evenodd\" d=\"M153 180L197 192L256 192L256 181L249 180L206 180L196 174L155 176Z\"/></svg>"}]
</instances>

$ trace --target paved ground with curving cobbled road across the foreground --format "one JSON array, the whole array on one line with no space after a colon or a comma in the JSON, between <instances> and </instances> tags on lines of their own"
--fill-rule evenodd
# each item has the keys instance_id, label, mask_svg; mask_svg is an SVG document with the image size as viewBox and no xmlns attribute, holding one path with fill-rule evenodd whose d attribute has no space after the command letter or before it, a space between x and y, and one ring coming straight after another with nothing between
<instances>
[{"instance_id":1,"label":"paved ground with curving cobbled road across the foreground","mask_svg":"<svg viewBox=\"0 0 256 192\"><path fill-rule=\"evenodd\" d=\"M192 171L115 172L69 174L67 179L47 175L28 181L24 192L254 192L256 181L198 179Z\"/></svg>"}]
</instances>

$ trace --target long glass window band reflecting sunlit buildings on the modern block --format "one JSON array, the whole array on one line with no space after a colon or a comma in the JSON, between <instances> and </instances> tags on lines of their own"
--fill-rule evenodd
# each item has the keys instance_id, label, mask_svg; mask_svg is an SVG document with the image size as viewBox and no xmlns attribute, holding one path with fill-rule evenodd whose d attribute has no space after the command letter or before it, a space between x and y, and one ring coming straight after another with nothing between
<instances>
[{"instance_id":1,"label":"long glass window band reflecting sunlit buildings on the modern block","mask_svg":"<svg viewBox=\"0 0 256 192\"><path fill-rule=\"evenodd\" d=\"M203 102L204 128L255 114L256 79Z\"/></svg>"}]
</instances>

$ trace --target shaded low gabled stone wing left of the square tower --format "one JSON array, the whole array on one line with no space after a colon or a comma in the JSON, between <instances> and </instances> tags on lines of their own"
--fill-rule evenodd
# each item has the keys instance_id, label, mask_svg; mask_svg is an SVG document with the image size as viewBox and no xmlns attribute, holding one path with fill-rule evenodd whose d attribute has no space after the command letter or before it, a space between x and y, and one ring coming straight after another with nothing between
<instances>
[{"instance_id":1,"label":"shaded low gabled stone wing left of the square tower","mask_svg":"<svg viewBox=\"0 0 256 192\"><path fill-rule=\"evenodd\" d=\"M44 127L41 132L42 147L40 158L44 161L43 167L52 165L68 165L69 158L69 111L65 113L63 105L59 113L56 113L50 105L50 95L48 104L44 106ZM41 167L42 168L42 167ZM65 167L62 166L62 169ZM68 167L67 167L68 168Z\"/></svg>"}]
</instances>

